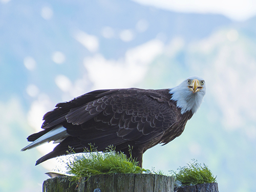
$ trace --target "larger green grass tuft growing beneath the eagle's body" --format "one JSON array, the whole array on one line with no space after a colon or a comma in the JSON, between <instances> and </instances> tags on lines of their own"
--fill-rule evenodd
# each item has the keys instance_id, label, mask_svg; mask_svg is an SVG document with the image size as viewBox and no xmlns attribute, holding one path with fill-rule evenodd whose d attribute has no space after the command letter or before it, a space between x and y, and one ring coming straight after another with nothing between
<instances>
[{"instance_id":1,"label":"larger green grass tuft growing beneath the eagle's body","mask_svg":"<svg viewBox=\"0 0 256 192\"><path fill-rule=\"evenodd\" d=\"M123 153L115 152L114 147L107 148L104 153L97 152L93 147L85 152L87 154L69 159L66 164L68 174L73 175L74 180L99 174L137 174L142 172L138 162L132 157L127 158Z\"/></svg>"}]
</instances>

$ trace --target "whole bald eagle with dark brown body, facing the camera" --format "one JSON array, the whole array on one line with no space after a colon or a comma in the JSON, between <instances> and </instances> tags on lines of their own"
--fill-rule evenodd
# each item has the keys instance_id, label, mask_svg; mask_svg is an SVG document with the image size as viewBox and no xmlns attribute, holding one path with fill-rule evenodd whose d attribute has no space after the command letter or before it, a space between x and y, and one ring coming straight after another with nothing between
<instances>
[{"instance_id":1,"label":"whole bald eagle with dark brown body, facing the camera","mask_svg":"<svg viewBox=\"0 0 256 192\"><path fill-rule=\"evenodd\" d=\"M76 153L92 143L98 151L113 145L142 166L143 153L159 143L167 144L184 131L185 124L198 110L205 95L205 81L189 77L177 87L161 90L97 90L56 105L44 115L41 132L30 135L31 144L59 143L52 152L36 161Z\"/></svg>"}]
</instances>

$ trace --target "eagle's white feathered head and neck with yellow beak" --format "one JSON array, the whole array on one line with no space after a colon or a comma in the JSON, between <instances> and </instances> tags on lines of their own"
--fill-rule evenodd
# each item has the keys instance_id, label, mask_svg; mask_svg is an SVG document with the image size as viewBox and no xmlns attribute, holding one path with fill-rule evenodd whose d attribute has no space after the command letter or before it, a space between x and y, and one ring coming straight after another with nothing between
<instances>
[{"instance_id":1,"label":"eagle's white feathered head and neck with yellow beak","mask_svg":"<svg viewBox=\"0 0 256 192\"><path fill-rule=\"evenodd\" d=\"M172 100L181 108L181 114L191 111L193 114L200 107L206 93L205 81L198 76L188 77L177 87L170 89Z\"/></svg>"}]
</instances>

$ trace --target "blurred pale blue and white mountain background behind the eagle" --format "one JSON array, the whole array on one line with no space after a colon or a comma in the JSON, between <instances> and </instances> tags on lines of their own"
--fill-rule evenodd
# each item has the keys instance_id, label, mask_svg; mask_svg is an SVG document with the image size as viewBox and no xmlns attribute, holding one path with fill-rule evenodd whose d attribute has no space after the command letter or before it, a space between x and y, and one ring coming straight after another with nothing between
<instances>
[{"instance_id":1,"label":"blurred pale blue and white mountain background behind the eagle","mask_svg":"<svg viewBox=\"0 0 256 192\"><path fill-rule=\"evenodd\" d=\"M0 1L0 191L41 191L56 160L26 152L58 102L95 89L172 88L188 76L207 94L184 133L148 150L143 167L197 159L219 190L256 191L256 2Z\"/></svg>"}]
</instances>

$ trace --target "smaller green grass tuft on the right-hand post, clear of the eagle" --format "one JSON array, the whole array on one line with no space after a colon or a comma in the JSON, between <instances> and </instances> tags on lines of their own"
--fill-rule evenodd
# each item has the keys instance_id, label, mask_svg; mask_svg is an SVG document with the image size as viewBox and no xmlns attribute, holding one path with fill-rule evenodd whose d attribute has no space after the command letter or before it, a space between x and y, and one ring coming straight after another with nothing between
<instances>
[{"instance_id":1,"label":"smaller green grass tuft on the right-hand post, clear of the eagle","mask_svg":"<svg viewBox=\"0 0 256 192\"><path fill-rule=\"evenodd\" d=\"M193 160L194 163L188 163L187 166L178 168L179 172L172 172L174 178L181 182L182 185L197 185L203 183L214 183L216 177L214 177L208 167L197 163L197 160Z\"/></svg>"}]
</instances>

